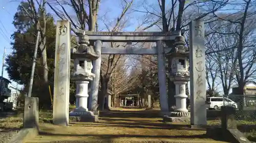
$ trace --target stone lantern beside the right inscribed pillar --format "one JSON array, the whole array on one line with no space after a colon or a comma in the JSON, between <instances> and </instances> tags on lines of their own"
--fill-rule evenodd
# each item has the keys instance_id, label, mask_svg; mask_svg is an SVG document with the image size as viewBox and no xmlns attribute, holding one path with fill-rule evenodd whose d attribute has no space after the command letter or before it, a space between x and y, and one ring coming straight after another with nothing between
<instances>
[{"instance_id":1,"label":"stone lantern beside the right inscribed pillar","mask_svg":"<svg viewBox=\"0 0 256 143\"><path fill-rule=\"evenodd\" d=\"M171 59L171 72L169 73L170 80L174 81L176 99L176 108L170 112L169 118L173 122L180 122L179 119L190 117L190 112L186 108L186 83L189 81L189 63L188 63L188 49L185 47L185 38L181 36L175 39L175 48L172 51L166 53L169 59ZM177 120L176 120L177 119ZM187 121L186 120L186 121ZM184 121L184 120L182 120Z\"/></svg>"}]
</instances>

